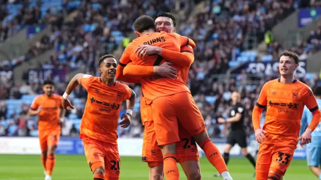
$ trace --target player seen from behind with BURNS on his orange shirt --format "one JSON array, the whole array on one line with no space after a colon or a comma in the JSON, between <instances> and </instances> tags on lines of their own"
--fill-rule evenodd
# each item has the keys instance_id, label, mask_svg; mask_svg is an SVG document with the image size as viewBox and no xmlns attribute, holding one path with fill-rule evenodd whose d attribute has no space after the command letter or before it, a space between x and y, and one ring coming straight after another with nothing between
<instances>
[{"instance_id":1,"label":"player seen from behind with BURNS on his orange shirt","mask_svg":"<svg viewBox=\"0 0 321 180\"><path fill-rule=\"evenodd\" d=\"M192 41L175 33L155 33L154 22L148 16L139 17L134 22L134 28L138 38L126 47L120 59L121 66L126 66L129 61L132 61L134 65L158 66L169 61L169 59L163 61L162 56L165 54L180 57L181 47L189 45L189 42ZM157 51L155 55L143 56L141 59L137 56L143 55L148 47L144 47L141 53L134 53L140 45L161 47L161 51ZM170 61L179 70L192 63L189 59L182 58L173 58ZM179 179L179 170L176 164L176 142L180 141L179 119L181 125L194 136L196 142L203 148L209 161L220 173L222 172L222 176L228 180L232 179L223 157L206 132L202 114L181 75L178 74L174 79L148 76L141 79L141 85L145 103L150 104L152 108L156 140L162 148L166 178Z\"/></svg>"}]
</instances>

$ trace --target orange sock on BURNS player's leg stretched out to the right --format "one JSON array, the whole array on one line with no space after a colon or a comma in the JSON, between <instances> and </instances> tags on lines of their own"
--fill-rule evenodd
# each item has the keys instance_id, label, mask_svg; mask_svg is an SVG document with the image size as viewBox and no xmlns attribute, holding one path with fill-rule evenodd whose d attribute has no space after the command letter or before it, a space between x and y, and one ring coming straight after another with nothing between
<instances>
[{"instance_id":1,"label":"orange sock on BURNS player's leg stretched out to the right","mask_svg":"<svg viewBox=\"0 0 321 180\"><path fill-rule=\"evenodd\" d=\"M200 144L200 147L204 150L207 159L217 169L217 171L219 171L220 174L224 171L228 171L220 150L209 137Z\"/></svg>"}]
</instances>

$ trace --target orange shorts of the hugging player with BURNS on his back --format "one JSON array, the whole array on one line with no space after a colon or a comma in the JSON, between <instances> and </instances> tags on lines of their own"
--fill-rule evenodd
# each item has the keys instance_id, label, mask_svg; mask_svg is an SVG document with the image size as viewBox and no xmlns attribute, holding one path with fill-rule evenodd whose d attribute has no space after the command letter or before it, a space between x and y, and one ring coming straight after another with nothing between
<instances>
[{"instance_id":1,"label":"orange shorts of the hugging player with BURNS on his back","mask_svg":"<svg viewBox=\"0 0 321 180\"><path fill-rule=\"evenodd\" d=\"M151 103L158 145L180 141L178 120L189 134L204 132L203 116L189 92L159 97Z\"/></svg>"}]
</instances>

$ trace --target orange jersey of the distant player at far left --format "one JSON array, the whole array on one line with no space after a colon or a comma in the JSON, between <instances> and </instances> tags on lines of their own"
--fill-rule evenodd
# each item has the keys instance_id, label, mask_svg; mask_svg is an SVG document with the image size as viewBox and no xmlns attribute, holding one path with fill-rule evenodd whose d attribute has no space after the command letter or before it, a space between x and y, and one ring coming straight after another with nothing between
<instances>
[{"instance_id":1,"label":"orange jersey of the distant player at far left","mask_svg":"<svg viewBox=\"0 0 321 180\"><path fill-rule=\"evenodd\" d=\"M53 94L48 97L44 94L37 96L31 103L30 108L37 110L39 106L43 107L43 110L38 114L39 124L38 129L42 131L52 131L60 129L59 125L59 114L60 108L62 107L62 96Z\"/></svg>"}]
</instances>

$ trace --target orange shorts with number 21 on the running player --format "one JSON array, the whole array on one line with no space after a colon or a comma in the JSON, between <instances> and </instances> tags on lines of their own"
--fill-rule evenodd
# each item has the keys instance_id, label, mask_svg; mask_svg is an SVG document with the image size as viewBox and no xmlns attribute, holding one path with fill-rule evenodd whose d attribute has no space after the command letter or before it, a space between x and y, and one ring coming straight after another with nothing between
<instances>
[{"instance_id":1,"label":"orange shorts with number 21 on the running player","mask_svg":"<svg viewBox=\"0 0 321 180\"><path fill-rule=\"evenodd\" d=\"M118 146L87 136L82 137L87 163L91 171L105 167L105 179L120 177L120 157Z\"/></svg>"}]
</instances>

